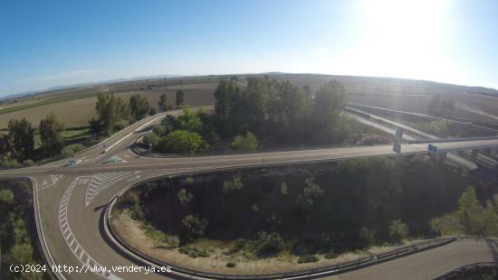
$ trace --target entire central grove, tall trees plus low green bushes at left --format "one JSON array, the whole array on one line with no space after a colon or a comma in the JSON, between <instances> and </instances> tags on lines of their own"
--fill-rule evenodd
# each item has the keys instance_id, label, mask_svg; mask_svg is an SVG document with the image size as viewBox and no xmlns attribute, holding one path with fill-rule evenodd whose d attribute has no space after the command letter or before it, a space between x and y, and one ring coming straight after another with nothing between
<instances>
[{"instance_id":1,"label":"entire central grove, tall trees plus low green bushes at left","mask_svg":"<svg viewBox=\"0 0 498 280\"><path fill-rule=\"evenodd\" d=\"M196 153L206 149L203 141L213 145L220 136L235 136L232 148L238 151L256 150L256 135L290 144L342 142L354 133L352 122L340 116L346 102L337 80L312 93L310 87L268 77L248 78L245 87L224 79L215 89L215 114L186 108L183 116L166 117L144 140L162 153ZM165 104L166 97L161 98L159 107ZM172 134L175 130L180 131Z\"/></svg>"}]
</instances>

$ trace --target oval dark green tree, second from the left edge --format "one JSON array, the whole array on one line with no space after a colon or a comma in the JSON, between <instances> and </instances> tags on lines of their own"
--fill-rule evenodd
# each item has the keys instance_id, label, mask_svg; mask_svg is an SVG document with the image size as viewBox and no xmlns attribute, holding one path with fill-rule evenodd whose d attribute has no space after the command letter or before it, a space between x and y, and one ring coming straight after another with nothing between
<instances>
[{"instance_id":1,"label":"oval dark green tree, second from the left edge","mask_svg":"<svg viewBox=\"0 0 498 280\"><path fill-rule=\"evenodd\" d=\"M46 154L60 154L64 146L62 131L64 125L57 120L53 112L40 121L38 131L42 140L42 148Z\"/></svg>"}]
</instances>

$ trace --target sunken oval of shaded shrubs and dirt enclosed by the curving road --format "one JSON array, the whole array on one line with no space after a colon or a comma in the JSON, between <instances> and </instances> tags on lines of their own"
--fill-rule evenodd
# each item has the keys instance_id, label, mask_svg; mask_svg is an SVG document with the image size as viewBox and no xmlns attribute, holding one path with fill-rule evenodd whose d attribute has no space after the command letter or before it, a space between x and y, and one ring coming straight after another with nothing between
<instances>
[{"instance_id":1,"label":"sunken oval of shaded shrubs and dirt enclosed by the curving road","mask_svg":"<svg viewBox=\"0 0 498 280\"><path fill-rule=\"evenodd\" d=\"M425 154L375 157L148 182L120 197L111 224L173 266L271 274L420 239L497 236L496 193Z\"/></svg>"}]
</instances>

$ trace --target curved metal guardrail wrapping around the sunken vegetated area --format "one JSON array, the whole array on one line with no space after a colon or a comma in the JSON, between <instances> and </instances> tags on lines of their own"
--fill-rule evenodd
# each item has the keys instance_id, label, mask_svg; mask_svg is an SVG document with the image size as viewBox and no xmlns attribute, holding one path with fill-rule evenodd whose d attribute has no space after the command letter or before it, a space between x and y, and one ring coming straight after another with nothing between
<instances>
[{"instance_id":1,"label":"curved metal guardrail wrapping around the sunken vegetated area","mask_svg":"<svg viewBox=\"0 0 498 280\"><path fill-rule=\"evenodd\" d=\"M213 170L207 171L209 173L214 172ZM275 273L275 274L265 274L265 275L225 275L225 274L216 274L216 273L208 273L203 271L198 271L194 269L189 269L185 267L178 267L171 264L168 264L165 261L159 260L155 257L148 256L145 253L140 252L137 248L132 247L124 240L120 238L120 235L114 229L112 223L112 210L116 201L130 189L137 187L144 182L150 182L154 180L158 180L160 178L173 178L178 176L192 175L198 172L186 172L186 173L177 173L174 175L162 175L154 178L149 178L142 182L136 182L130 185L128 188L123 189L118 194L116 194L110 201L110 204L106 208L104 212L104 232L110 239L110 241L118 248L120 248L125 254L129 255L134 259L139 260L140 262L147 264L148 266L169 266L171 267L172 274L179 275L184 278L194 278L194 279L299 279L299 278L308 278L311 276L318 275L336 275L340 273L344 273L350 270L359 269L366 266L373 266L378 263L386 262L388 260L395 259L397 257L405 257L411 254L415 254L417 252L425 251L427 249L433 247L439 247L446 245L450 242L455 241L458 238L438 238L438 239L430 239L426 241L420 241L417 243L413 243L404 247L399 247L397 249L382 253L382 254L372 254L369 257L359 257L356 260L341 262L336 265L330 266L321 266L318 268L308 268L302 270L294 270L285 273ZM206 173L206 172L204 172ZM463 237L466 238L466 237Z\"/></svg>"}]
</instances>

